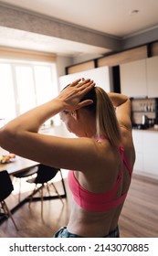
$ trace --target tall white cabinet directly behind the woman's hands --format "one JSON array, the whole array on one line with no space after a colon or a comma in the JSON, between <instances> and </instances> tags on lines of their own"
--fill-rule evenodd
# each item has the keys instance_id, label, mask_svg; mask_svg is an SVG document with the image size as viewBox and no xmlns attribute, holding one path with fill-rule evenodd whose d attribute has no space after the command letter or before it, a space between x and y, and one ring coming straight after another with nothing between
<instances>
[{"instance_id":1,"label":"tall white cabinet directly behind the woman's hands","mask_svg":"<svg viewBox=\"0 0 158 256\"><path fill-rule=\"evenodd\" d=\"M79 78L94 80L96 85L100 86L105 91L113 91L112 69L107 66L59 77L60 90L73 80L77 80Z\"/></svg>"}]
</instances>

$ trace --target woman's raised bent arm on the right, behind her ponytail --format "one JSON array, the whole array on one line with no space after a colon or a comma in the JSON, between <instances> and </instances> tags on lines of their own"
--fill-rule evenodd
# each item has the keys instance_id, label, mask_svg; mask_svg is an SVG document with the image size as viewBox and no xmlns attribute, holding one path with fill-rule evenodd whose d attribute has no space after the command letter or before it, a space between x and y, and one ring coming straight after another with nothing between
<instances>
[{"instance_id":1,"label":"woman's raised bent arm on the right, behind her ponytail","mask_svg":"<svg viewBox=\"0 0 158 256\"><path fill-rule=\"evenodd\" d=\"M108 95L113 106L116 108L116 116L120 126L131 130L132 121L130 99L121 93L110 92Z\"/></svg>"}]
</instances>

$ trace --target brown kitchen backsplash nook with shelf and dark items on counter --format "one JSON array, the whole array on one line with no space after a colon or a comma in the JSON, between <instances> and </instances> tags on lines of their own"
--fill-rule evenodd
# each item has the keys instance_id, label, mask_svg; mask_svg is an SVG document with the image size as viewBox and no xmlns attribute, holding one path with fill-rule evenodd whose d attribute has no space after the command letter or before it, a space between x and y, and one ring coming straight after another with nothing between
<instances>
[{"instance_id":1,"label":"brown kitchen backsplash nook with shelf and dark items on counter","mask_svg":"<svg viewBox=\"0 0 158 256\"><path fill-rule=\"evenodd\" d=\"M132 98L132 128L148 129L158 123L158 98Z\"/></svg>"}]
</instances>

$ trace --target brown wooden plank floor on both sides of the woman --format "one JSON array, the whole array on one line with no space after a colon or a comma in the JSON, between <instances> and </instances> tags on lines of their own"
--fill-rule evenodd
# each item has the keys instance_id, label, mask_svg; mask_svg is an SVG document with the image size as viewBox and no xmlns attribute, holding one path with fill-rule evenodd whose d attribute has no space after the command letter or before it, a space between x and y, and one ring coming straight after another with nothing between
<instances>
[{"instance_id":1,"label":"brown wooden plank floor on both sides of the woman","mask_svg":"<svg viewBox=\"0 0 158 256\"><path fill-rule=\"evenodd\" d=\"M67 187L67 179L65 183ZM57 187L61 190L59 182ZM40 201L32 202L30 208L26 203L13 215L19 230L16 231L11 219L7 219L0 226L0 237L51 238L58 228L68 223L70 198L68 191L68 198L63 199L64 205L59 199L45 201L44 219L40 215ZM10 208L16 202L15 195L7 198ZM120 231L122 238L158 237L158 180L133 175L132 186L121 212Z\"/></svg>"}]
</instances>

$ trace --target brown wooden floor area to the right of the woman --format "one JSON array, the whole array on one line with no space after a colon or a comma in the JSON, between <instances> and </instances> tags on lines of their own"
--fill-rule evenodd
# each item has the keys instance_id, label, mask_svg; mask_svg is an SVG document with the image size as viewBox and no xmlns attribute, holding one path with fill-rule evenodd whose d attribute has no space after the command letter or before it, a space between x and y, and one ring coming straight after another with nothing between
<instances>
[{"instance_id":1,"label":"brown wooden floor area to the right of the woman","mask_svg":"<svg viewBox=\"0 0 158 256\"><path fill-rule=\"evenodd\" d=\"M158 180L132 176L120 229L123 238L158 238Z\"/></svg>"}]
</instances>

